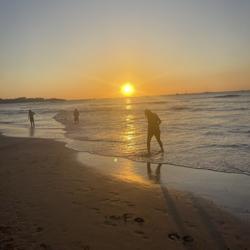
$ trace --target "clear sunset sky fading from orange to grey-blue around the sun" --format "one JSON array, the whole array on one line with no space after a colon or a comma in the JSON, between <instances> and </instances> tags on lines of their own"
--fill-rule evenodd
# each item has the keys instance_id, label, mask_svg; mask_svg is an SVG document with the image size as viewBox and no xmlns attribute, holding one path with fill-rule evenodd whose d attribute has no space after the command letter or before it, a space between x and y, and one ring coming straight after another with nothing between
<instances>
[{"instance_id":1,"label":"clear sunset sky fading from orange to grey-blue around the sun","mask_svg":"<svg viewBox=\"0 0 250 250\"><path fill-rule=\"evenodd\" d=\"M250 89L249 0L0 0L0 98Z\"/></svg>"}]
</instances>

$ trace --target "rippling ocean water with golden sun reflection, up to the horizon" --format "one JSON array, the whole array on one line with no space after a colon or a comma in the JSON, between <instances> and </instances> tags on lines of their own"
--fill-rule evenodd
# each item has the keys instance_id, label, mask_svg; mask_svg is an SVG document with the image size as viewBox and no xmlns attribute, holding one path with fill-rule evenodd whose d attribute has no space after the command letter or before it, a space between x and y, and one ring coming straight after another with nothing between
<instances>
[{"instance_id":1,"label":"rippling ocean water with golden sun reflection, up to the horizon","mask_svg":"<svg viewBox=\"0 0 250 250\"><path fill-rule=\"evenodd\" d=\"M35 129L29 109L36 113ZM147 156L145 109L162 120L164 154L153 138ZM65 141L94 155L250 175L249 91L0 104L0 132Z\"/></svg>"}]
</instances>

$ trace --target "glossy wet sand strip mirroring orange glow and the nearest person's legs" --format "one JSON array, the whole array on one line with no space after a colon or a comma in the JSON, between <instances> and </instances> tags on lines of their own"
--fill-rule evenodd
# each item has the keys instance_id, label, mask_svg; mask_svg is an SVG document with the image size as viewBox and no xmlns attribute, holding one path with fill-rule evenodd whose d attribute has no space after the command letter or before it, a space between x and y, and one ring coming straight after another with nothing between
<instances>
[{"instance_id":1,"label":"glossy wet sand strip mirroring orange glow and the nearest person's legs","mask_svg":"<svg viewBox=\"0 0 250 250\"><path fill-rule=\"evenodd\" d=\"M77 159L83 165L90 165L104 175L110 175L128 183L138 185L153 183L205 198L250 224L250 194L247 192L250 182L247 175L137 162L127 158L101 156L88 152L78 152ZM108 167L103 168L103 163ZM157 173L159 165L161 167Z\"/></svg>"}]
</instances>

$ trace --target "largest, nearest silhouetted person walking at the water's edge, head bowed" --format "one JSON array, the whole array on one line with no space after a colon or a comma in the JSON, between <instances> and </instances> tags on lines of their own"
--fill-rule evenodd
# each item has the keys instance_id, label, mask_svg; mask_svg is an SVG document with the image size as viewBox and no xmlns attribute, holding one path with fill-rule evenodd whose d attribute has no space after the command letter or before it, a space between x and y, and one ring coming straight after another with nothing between
<instances>
[{"instance_id":1,"label":"largest, nearest silhouetted person walking at the water's edge, head bowed","mask_svg":"<svg viewBox=\"0 0 250 250\"><path fill-rule=\"evenodd\" d=\"M156 113L153 113L149 109L146 109L144 111L144 113L145 113L145 116L148 120L148 136L147 136L148 154L151 153L150 144L151 144L151 139L153 136L155 136L156 140L158 141L158 143L161 147L161 152L164 152L162 141L161 141L161 131L160 131L161 119L159 118L159 116Z\"/></svg>"}]
</instances>

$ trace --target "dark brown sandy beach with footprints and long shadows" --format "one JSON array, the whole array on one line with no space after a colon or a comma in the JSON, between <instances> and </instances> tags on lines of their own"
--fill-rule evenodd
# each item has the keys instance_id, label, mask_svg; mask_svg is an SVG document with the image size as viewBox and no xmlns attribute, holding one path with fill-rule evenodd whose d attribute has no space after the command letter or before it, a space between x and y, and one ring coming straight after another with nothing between
<instances>
[{"instance_id":1,"label":"dark brown sandy beach with footprints and long shadows","mask_svg":"<svg viewBox=\"0 0 250 250\"><path fill-rule=\"evenodd\" d=\"M249 225L213 203L76 158L63 143L0 137L0 249L249 249Z\"/></svg>"}]
</instances>

